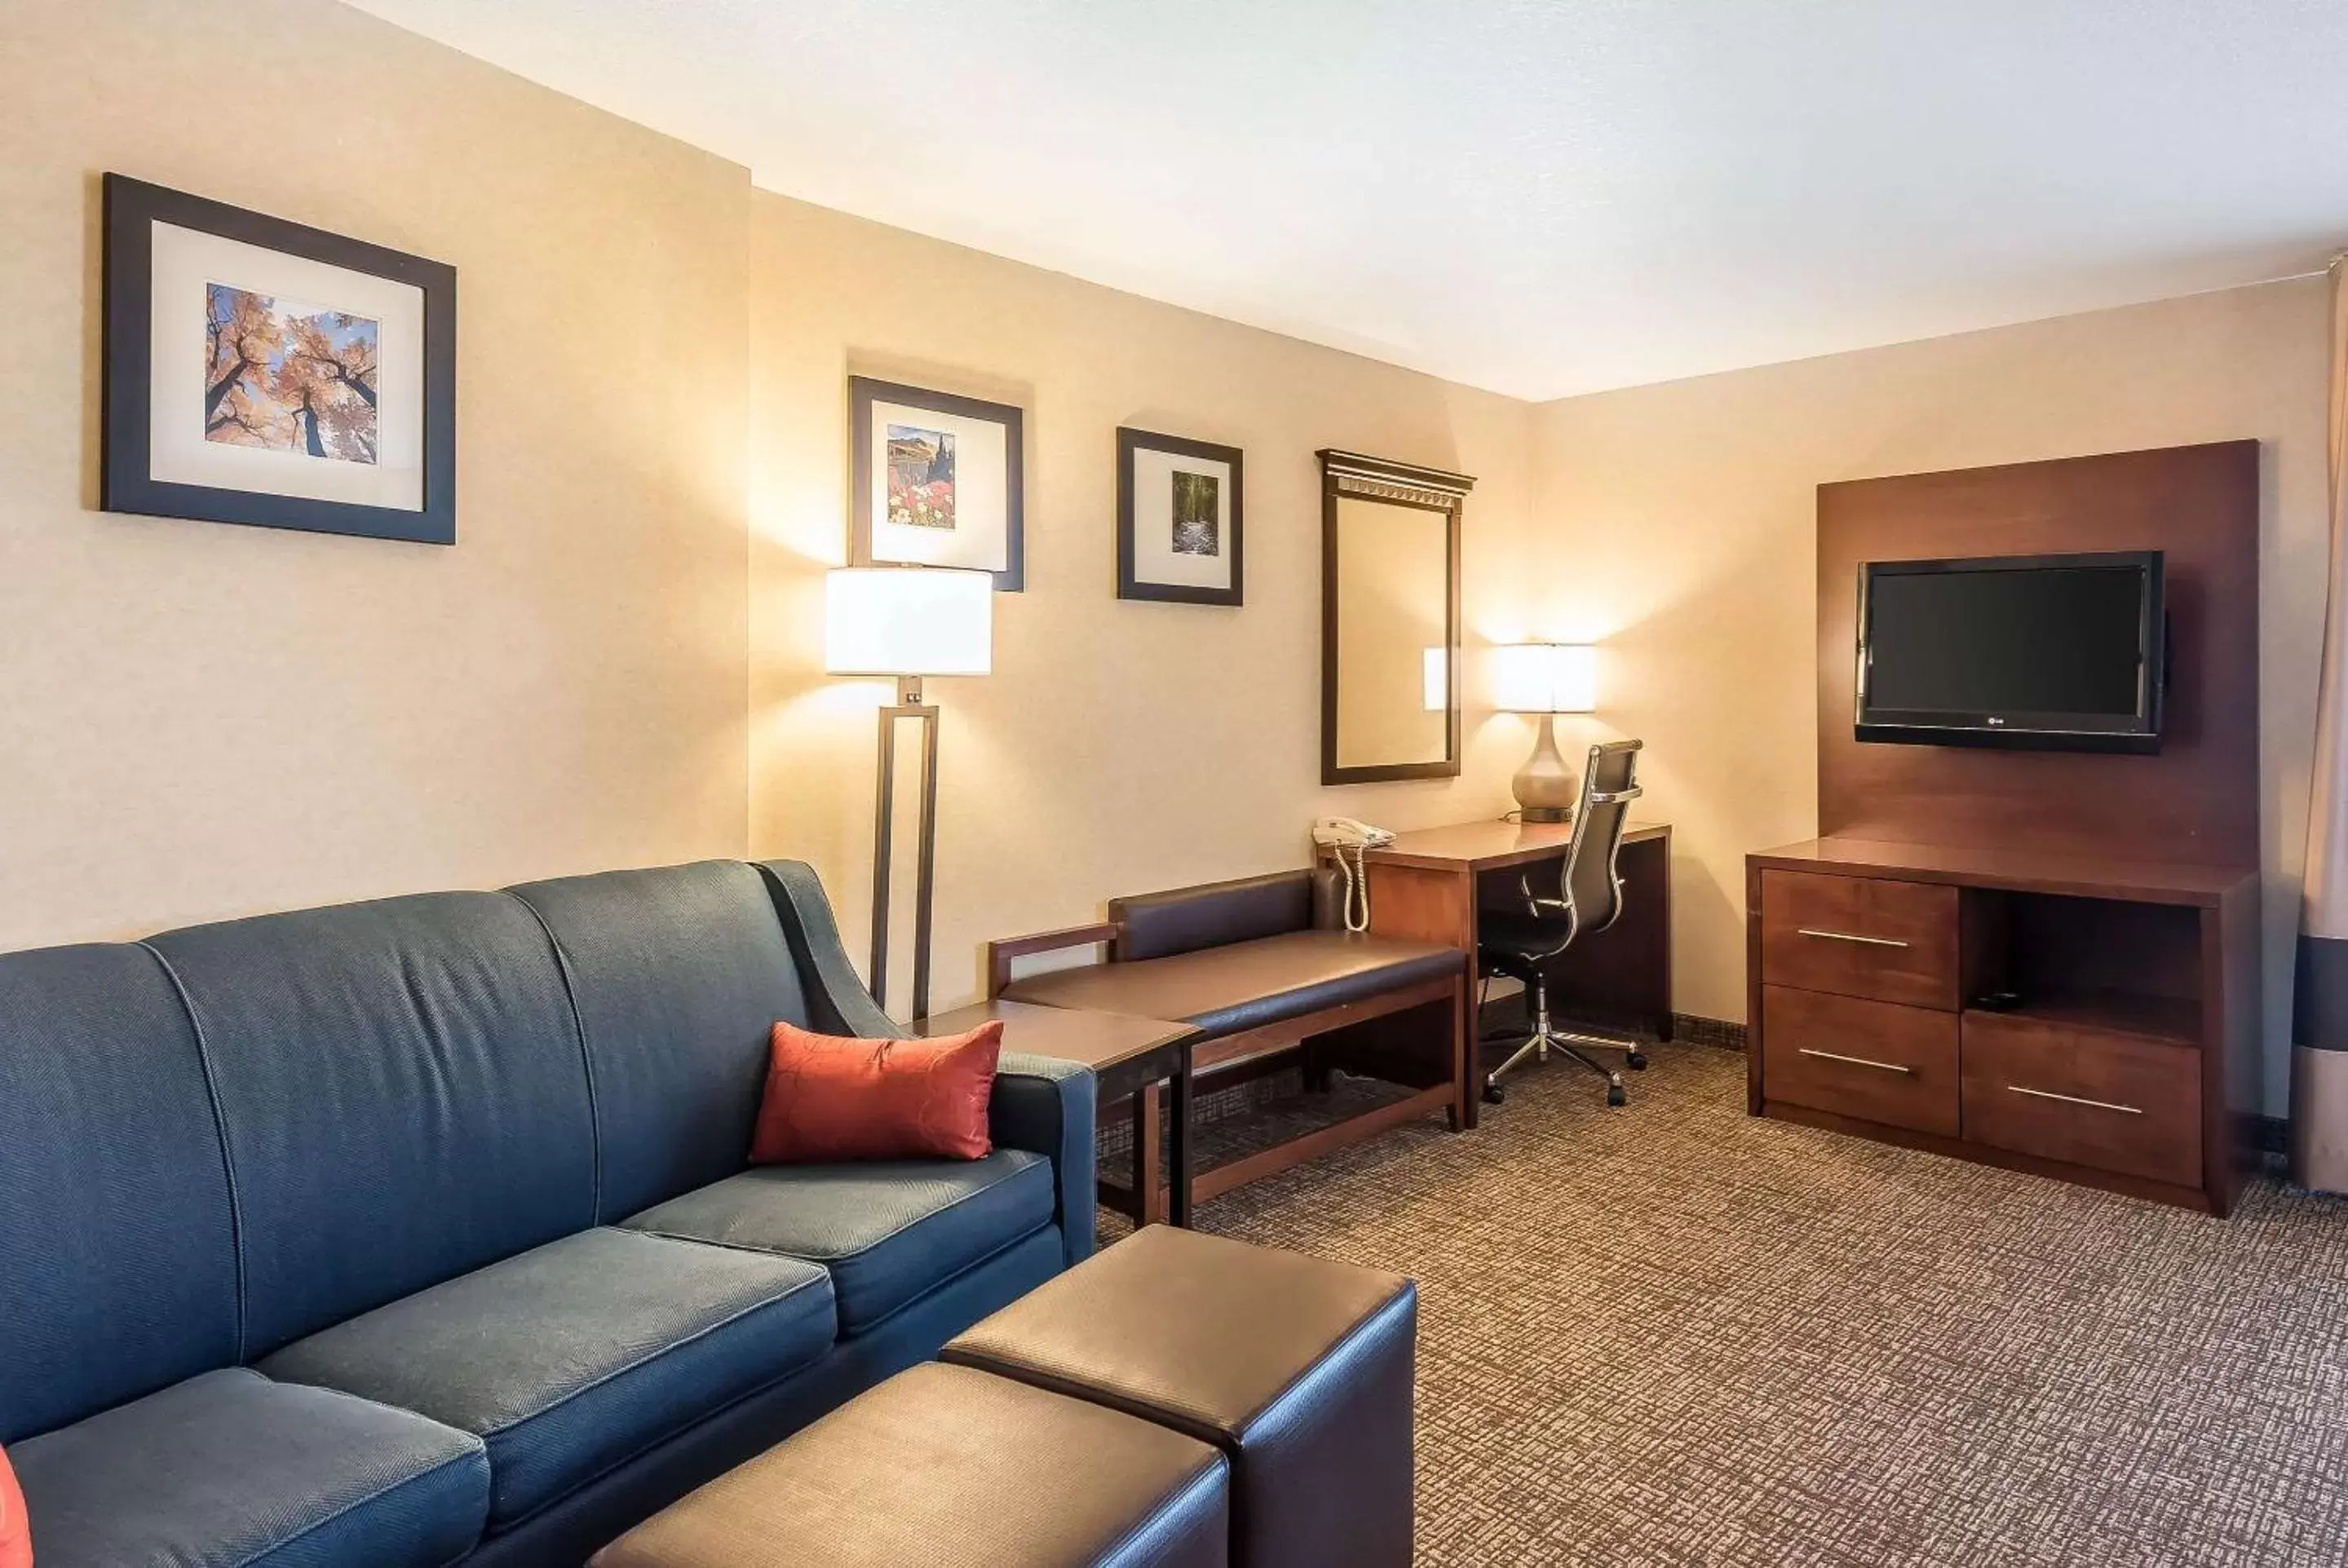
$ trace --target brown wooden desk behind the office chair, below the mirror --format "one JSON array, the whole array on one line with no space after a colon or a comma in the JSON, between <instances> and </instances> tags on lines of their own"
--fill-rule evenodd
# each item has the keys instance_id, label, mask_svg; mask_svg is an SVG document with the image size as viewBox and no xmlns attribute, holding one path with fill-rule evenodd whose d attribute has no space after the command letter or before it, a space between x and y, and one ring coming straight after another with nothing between
<instances>
[{"instance_id":1,"label":"brown wooden desk behind the office chair, below the mirror","mask_svg":"<svg viewBox=\"0 0 2348 1568\"><path fill-rule=\"evenodd\" d=\"M1369 930L1475 953L1477 911L1519 904L1517 878L1573 843L1564 822L1458 822L1397 833L1369 850ZM1550 1009L1564 1019L1672 1038L1672 826L1622 831L1615 859L1622 915L1550 965Z\"/></svg>"}]
</instances>

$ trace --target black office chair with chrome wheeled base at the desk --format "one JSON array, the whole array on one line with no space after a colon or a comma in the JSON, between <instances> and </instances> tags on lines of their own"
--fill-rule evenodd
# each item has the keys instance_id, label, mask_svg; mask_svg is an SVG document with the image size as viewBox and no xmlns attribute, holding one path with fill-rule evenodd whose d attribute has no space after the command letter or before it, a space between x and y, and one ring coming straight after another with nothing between
<instances>
[{"instance_id":1,"label":"black office chair with chrome wheeled base at the desk","mask_svg":"<svg viewBox=\"0 0 2348 1568\"><path fill-rule=\"evenodd\" d=\"M1615 873L1615 854L1622 847L1622 822L1630 803L1639 798L1637 784L1639 742L1611 739L1590 746L1590 765L1583 770L1583 800L1573 812L1573 838L1564 857L1540 866L1557 866L1557 892L1533 892L1533 871L1517 878L1524 892L1522 908L1486 908L1477 915L1477 962L1491 972L1524 981L1526 1002L1533 1014L1531 1038L1484 1077L1484 1099L1498 1106L1507 1094L1500 1080L1524 1066L1526 1059L1547 1061L1557 1047L1573 1061L1606 1080L1606 1103L1620 1106L1630 1096L1622 1091L1622 1075L1594 1061L1580 1047L1627 1052L1625 1066L1634 1073L1646 1068L1646 1054L1630 1040L1604 1035L1580 1035L1550 1023L1552 958L1573 946L1576 937L1604 932L1622 913L1622 878ZM1514 1030L1491 1035L1514 1040Z\"/></svg>"}]
</instances>

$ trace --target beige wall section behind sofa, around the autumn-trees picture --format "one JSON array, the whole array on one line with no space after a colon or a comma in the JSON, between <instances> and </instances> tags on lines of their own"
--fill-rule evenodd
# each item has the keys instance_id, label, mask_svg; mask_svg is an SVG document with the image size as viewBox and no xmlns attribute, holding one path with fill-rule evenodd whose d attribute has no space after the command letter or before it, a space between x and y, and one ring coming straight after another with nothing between
<instances>
[{"instance_id":1,"label":"beige wall section behind sofa, around the autumn-trees picture","mask_svg":"<svg viewBox=\"0 0 2348 1568\"><path fill-rule=\"evenodd\" d=\"M742 852L747 174L319 0L0 103L0 948ZM94 509L106 169L456 263L456 549Z\"/></svg>"}]
</instances>

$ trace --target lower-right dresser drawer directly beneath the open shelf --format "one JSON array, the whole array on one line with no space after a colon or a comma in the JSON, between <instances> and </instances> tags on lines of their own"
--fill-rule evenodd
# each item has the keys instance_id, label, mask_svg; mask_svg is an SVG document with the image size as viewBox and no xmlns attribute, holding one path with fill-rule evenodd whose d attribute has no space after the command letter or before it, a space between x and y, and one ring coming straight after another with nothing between
<instances>
[{"instance_id":1,"label":"lower-right dresser drawer directly beneath the open shelf","mask_svg":"<svg viewBox=\"0 0 2348 1568\"><path fill-rule=\"evenodd\" d=\"M2200 1185L2193 1047L1968 1012L1961 1056L1968 1141Z\"/></svg>"}]
</instances>

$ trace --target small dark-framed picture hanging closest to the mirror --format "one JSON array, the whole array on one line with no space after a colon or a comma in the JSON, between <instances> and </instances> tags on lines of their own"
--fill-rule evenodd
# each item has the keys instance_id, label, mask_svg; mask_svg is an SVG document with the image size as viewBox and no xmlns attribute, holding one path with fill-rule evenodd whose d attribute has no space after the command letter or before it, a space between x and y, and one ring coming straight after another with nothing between
<instances>
[{"instance_id":1,"label":"small dark-framed picture hanging closest to the mirror","mask_svg":"<svg viewBox=\"0 0 2348 1568\"><path fill-rule=\"evenodd\" d=\"M1118 430L1118 599L1242 603L1237 446Z\"/></svg>"}]
</instances>

